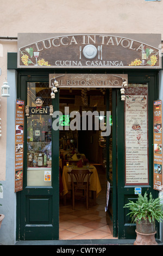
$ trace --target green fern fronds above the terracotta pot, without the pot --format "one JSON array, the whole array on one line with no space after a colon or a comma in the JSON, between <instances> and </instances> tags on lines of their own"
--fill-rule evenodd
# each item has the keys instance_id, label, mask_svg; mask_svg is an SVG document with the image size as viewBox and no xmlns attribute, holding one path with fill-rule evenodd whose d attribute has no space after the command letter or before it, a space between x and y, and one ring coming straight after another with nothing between
<instances>
[{"instance_id":1,"label":"green fern fronds above the terracotta pot, without the pot","mask_svg":"<svg viewBox=\"0 0 163 256\"><path fill-rule=\"evenodd\" d=\"M149 199L147 192L142 196L142 194L138 194L138 198L136 202L129 200L129 203L123 206L124 208L128 208L131 212L129 214L131 217L131 222L140 221L142 219L152 221L156 220L158 222L162 222L163 220L163 211L162 211L162 203L160 197L153 199L152 194L149 194Z\"/></svg>"}]
</instances>

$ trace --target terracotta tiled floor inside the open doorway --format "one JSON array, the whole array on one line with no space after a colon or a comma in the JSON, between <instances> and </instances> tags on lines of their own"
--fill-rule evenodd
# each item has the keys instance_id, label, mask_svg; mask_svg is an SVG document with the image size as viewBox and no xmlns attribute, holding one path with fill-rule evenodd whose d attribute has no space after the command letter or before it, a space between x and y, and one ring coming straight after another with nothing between
<instances>
[{"instance_id":1,"label":"terracotta tiled floor inside the open doorway","mask_svg":"<svg viewBox=\"0 0 163 256\"><path fill-rule=\"evenodd\" d=\"M68 194L67 204L62 204L60 200L60 222L59 222L59 239L115 239L112 236L112 222L110 218L106 221L105 208L105 173L98 173L102 185L102 191L97 198L96 205L91 205L86 210L86 203L83 198L75 200L75 209L72 210L71 196ZM107 223L108 222L108 223Z\"/></svg>"}]
</instances>

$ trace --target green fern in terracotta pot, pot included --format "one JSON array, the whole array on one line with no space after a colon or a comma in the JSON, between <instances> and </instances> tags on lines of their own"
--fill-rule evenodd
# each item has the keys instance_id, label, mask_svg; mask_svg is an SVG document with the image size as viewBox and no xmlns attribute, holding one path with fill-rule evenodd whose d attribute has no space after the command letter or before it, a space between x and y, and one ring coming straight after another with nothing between
<instances>
[{"instance_id":1,"label":"green fern in terracotta pot, pot included","mask_svg":"<svg viewBox=\"0 0 163 256\"><path fill-rule=\"evenodd\" d=\"M129 201L128 204L124 205L124 208L130 210L129 214L131 222L136 223L136 241L134 245L157 245L154 235L155 231L155 220L162 222L163 211L160 197L153 199L152 194L147 192L142 196L138 194L136 202Z\"/></svg>"}]
</instances>

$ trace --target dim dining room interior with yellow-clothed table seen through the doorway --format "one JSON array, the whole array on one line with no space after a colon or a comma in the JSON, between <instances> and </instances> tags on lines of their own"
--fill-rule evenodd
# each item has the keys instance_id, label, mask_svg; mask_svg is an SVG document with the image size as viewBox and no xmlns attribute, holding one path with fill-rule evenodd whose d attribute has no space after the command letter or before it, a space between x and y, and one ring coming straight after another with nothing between
<instances>
[{"instance_id":1,"label":"dim dining room interior with yellow-clothed table seen through the doorway","mask_svg":"<svg viewBox=\"0 0 163 256\"><path fill-rule=\"evenodd\" d=\"M109 90L109 108L111 109L111 89ZM62 88L59 92L59 106L63 114L60 125L60 209L59 209L59 239L60 240L88 240L88 239L116 239L113 235L110 200L108 203L106 167L111 170L111 134L109 136L110 157L106 164L106 137L101 136L101 130L95 128L96 118L92 121L92 129L71 130L69 116L65 114L65 107L69 112L82 113L97 111L106 113L106 90L103 88ZM101 112L103 111L103 112ZM111 125L111 119L110 125ZM67 128L69 127L69 128ZM82 124L81 124L82 127ZM108 167L107 167L108 168ZM89 169L92 174L89 179L89 206L83 191L72 193L72 169ZM111 171L110 171L111 173ZM108 211L107 209L110 208Z\"/></svg>"}]
</instances>

